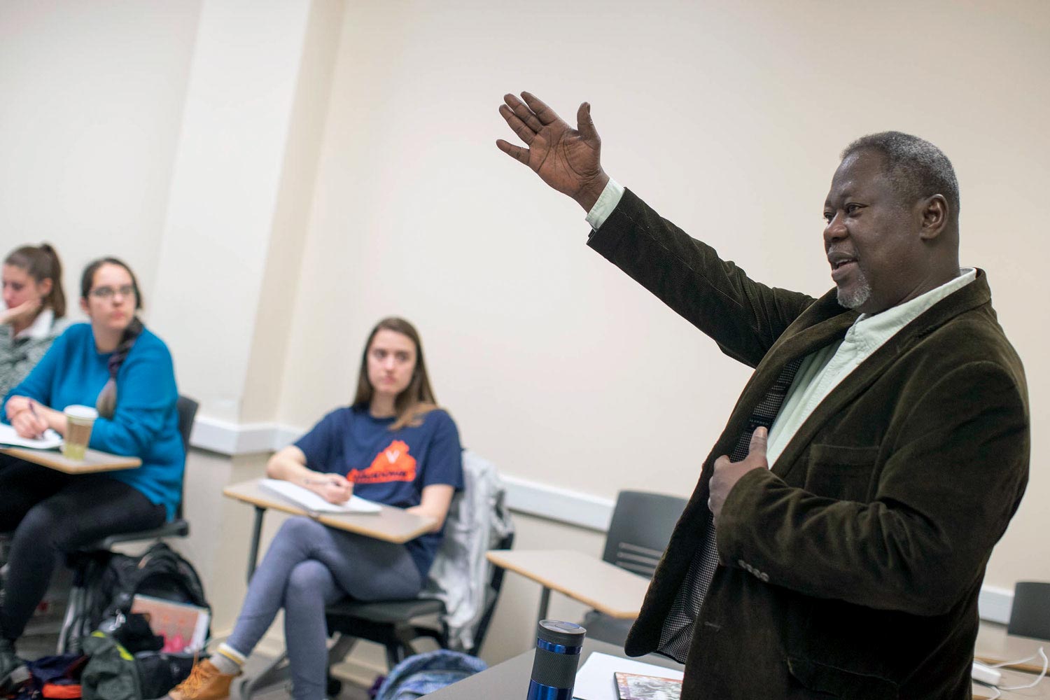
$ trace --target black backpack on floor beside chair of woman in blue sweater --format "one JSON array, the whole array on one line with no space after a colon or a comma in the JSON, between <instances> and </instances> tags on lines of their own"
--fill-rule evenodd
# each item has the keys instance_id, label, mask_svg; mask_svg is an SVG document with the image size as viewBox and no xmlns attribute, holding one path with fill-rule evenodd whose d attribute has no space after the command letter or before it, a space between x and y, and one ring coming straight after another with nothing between
<instances>
[{"instance_id":1,"label":"black backpack on floor beside chair of woman in blue sweater","mask_svg":"<svg viewBox=\"0 0 1050 700\"><path fill-rule=\"evenodd\" d=\"M86 567L84 604L74 621L71 639L98 629L102 620L127 614L135 595L187 602L211 612L201 577L189 561L159 542L142 556L117 552L77 554L91 558ZM207 637L211 636L208 631Z\"/></svg>"}]
</instances>

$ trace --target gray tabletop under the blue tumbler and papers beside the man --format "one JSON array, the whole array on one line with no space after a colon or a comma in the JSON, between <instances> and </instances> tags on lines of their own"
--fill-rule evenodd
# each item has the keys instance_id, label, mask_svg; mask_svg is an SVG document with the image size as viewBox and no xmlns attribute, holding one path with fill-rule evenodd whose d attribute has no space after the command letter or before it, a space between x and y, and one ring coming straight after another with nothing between
<instances>
[{"instance_id":1,"label":"gray tabletop under the blue tumbler and papers beside the man","mask_svg":"<svg viewBox=\"0 0 1050 700\"><path fill-rule=\"evenodd\" d=\"M585 639L584 648L580 652L580 667L587 662L587 657L594 652L602 652L611 656L627 658L624 650L596 639ZM532 658L536 650L530 649L524 654L519 654L512 659L507 659L503 663L498 663L491 669L482 671L468 678L464 678L458 683L445 686L440 691L435 691L426 696L426 700L524 700L528 693L528 681L532 675ZM665 669L675 669L681 671L682 665L675 663L671 659L648 654L638 657L637 661L653 663Z\"/></svg>"}]
</instances>

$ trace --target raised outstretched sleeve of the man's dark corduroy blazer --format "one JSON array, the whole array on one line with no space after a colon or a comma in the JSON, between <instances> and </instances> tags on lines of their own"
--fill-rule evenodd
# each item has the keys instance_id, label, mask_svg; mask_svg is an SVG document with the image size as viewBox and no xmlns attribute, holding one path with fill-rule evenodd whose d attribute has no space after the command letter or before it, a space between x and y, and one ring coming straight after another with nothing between
<instances>
[{"instance_id":1,"label":"raised outstretched sleeve of the man's dark corduroy blazer","mask_svg":"<svg viewBox=\"0 0 1050 700\"><path fill-rule=\"evenodd\" d=\"M753 281L630 190L587 245L752 367L814 302Z\"/></svg>"}]
</instances>

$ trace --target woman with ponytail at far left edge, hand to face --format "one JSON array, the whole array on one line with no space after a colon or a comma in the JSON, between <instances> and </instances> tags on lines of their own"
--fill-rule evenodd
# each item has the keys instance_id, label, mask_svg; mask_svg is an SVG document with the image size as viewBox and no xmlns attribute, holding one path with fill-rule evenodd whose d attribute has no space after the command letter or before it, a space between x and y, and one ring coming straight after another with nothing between
<instances>
[{"instance_id":1,"label":"woman with ponytail at far left edge, hand to face","mask_svg":"<svg viewBox=\"0 0 1050 700\"><path fill-rule=\"evenodd\" d=\"M23 246L3 261L0 397L25 379L65 331L62 263L47 243Z\"/></svg>"}]
</instances>

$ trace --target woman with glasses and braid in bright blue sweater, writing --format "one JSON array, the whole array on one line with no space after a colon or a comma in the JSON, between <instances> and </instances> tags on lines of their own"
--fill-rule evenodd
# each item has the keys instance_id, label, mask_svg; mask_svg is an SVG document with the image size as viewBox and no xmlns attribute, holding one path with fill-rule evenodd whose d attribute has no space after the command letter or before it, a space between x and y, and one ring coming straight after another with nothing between
<instances>
[{"instance_id":1,"label":"woman with glasses and braid in bright blue sweater, writing","mask_svg":"<svg viewBox=\"0 0 1050 700\"><path fill-rule=\"evenodd\" d=\"M104 258L81 279L90 323L70 325L25 380L4 413L19 434L66 432L62 409L96 406L90 447L142 459L136 469L66 474L5 458L0 469L0 531L14 530L0 602L0 695L25 666L15 641L43 597L58 552L100 537L160 527L180 499L185 451L171 355L135 316L142 295L126 264Z\"/></svg>"}]
</instances>

